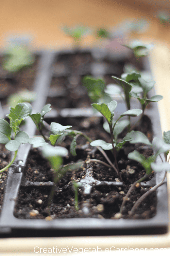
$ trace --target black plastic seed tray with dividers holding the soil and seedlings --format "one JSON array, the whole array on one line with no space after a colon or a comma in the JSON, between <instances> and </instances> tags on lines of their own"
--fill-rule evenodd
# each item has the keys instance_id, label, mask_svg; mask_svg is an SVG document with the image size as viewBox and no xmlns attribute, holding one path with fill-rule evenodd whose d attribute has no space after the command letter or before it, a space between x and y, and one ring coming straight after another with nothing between
<instances>
[{"instance_id":1,"label":"black plastic seed tray with dividers holding the soil and seedlings","mask_svg":"<svg viewBox=\"0 0 170 256\"><path fill-rule=\"evenodd\" d=\"M93 59L90 67L88 63L79 65L78 68L72 65L72 68L68 68L67 65L63 65L63 59L69 55L74 54L85 54L88 55L89 60ZM109 57L108 57L109 56ZM88 50L85 52L51 52L45 51L41 55L39 63L39 71L35 80L34 90L37 93L37 100L33 102L32 113L41 111L42 107L47 102L47 96L49 95L49 87L53 77L81 77L82 75L120 75L116 74L116 69L113 72L115 66L114 55L113 59L110 59L110 55L104 51ZM57 60L57 62L56 62ZM104 61L103 61L104 60ZM108 60L108 62L107 62ZM125 57L121 57L120 63L125 61ZM88 62L88 61L87 61ZM102 66L102 63L107 65ZM108 63L111 63L110 66ZM149 64L148 60L144 59L144 67L148 71ZM59 73L60 72L60 73ZM70 79L70 78L69 78ZM151 95L154 95L155 91L152 89ZM119 115L126 111L125 105L120 98L118 101L117 113ZM138 107L138 103L134 101L133 107ZM2 110L1 110L2 111ZM159 119L158 106L156 103L151 104L151 107L147 109L146 113L152 122L152 128L154 137L161 138L161 125ZM49 112L48 118L55 117L90 117L95 115L92 108L57 108ZM1 114L2 116L2 114ZM36 127L33 125L32 120L26 123L25 131L29 136L33 136L36 132ZM42 219L18 219L14 217L15 204L20 189L22 187L51 187L53 182L34 182L25 181L24 169L28 157L31 145L21 145L18 150L17 160L9 168L7 180L5 183L5 194L4 202L0 215L0 234L1 237L12 237L12 236L85 236L85 235L123 235L123 234L160 234L167 232L168 226L168 209L167 209L167 188L166 182L157 190L157 213L156 215L147 220L142 219L95 219L95 218L71 218L71 219L54 219L52 221L46 221ZM158 159L158 162L161 159ZM90 194L93 186L118 186L121 187L122 182L112 181L98 181L91 175L93 170L87 165L85 177L81 180L83 183L83 189L85 194ZM163 177L162 173L156 174L151 181L144 183L143 186L153 186L159 183ZM163 199L163 200L162 200ZM86 209L85 209L86 208ZM84 208L84 214L88 214L88 208Z\"/></svg>"}]
</instances>

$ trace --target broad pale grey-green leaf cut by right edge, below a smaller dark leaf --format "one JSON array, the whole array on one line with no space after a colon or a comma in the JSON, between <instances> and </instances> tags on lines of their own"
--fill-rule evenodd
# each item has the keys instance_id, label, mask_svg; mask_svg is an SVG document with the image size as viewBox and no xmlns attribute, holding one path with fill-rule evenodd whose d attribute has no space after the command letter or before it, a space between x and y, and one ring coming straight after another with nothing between
<instances>
[{"instance_id":1,"label":"broad pale grey-green leaf cut by right edge, below a smaller dark leaf","mask_svg":"<svg viewBox=\"0 0 170 256\"><path fill-rule=\"evenodd\" d=\"M169 151L170 144L165 143L163 139L159 139L155 137L152 140L152 148L154 150L155 157L157 157L159 154Z\"/></svg>"}]
</instances>

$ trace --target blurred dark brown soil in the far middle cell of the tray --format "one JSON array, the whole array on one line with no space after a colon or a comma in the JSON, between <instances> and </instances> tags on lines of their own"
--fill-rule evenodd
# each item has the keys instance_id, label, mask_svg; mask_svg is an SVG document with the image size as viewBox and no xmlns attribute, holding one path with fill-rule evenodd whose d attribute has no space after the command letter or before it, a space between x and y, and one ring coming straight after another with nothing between
<instances>
[{"instance_id":1,"label":"blurred dark brown soil in the far middle cell of the tray","mask_svg":"<svg viewBox=\"0 0 170 256\"><path fill-rule=\"evenodd\" d=\"M104 76L106 85L114 83L111 76L120 76L124 65L125 61L96 61L91 53L61 54L53 66L54 76L46 104L50 103L55 109L90 107L92 102L82 78Z\"/></svg>"}]
</instances>

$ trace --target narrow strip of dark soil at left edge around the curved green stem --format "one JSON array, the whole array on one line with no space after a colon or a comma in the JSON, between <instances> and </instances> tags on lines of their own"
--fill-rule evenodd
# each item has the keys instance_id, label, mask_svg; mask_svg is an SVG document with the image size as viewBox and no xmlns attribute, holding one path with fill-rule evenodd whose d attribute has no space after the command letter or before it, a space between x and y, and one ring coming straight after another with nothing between
<instances>
[{"instance_id":1,"label":"narrow strip of dark soil at left edge around the curved green stem","mask_svg":"<svg viewBox=\"0 0 170 256\"><path fill-rule=\"evenodd\" d=\"M10 162L10 151L8 151L4 144L0 144L0 170L7 166ZM3 204L4 190L5 190L5 180L7 177L8 169L0 173L0 212Z\"/></svg>"}]
</instances>

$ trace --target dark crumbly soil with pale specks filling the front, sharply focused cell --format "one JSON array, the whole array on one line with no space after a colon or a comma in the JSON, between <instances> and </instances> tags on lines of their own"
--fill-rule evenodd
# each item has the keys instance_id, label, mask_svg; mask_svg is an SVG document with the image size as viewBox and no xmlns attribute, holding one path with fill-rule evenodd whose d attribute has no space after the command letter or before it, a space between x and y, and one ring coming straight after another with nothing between
<instances>
[{"instance_id":1,"label":"dark crumbly soil with pale specks filling the front, sharply focused cell","mask_svg":"<svg viewBox=\"0 0 170 256\"><path fill-rule=\"evenodd\" d=\"M105 139L109 139L108 134L102 131L103 127L101 118L99 118L99 120L100 121L98 121L96 129L98 132L96 134L94 133L95 129L93 128L92 122L88 132L86 131L87 134L90 133L93 135L93 139L104 139L103 136L100 137L100 135L105 134ZM75 121L73 129L75 129L76 125L78 124L76 124ZM61 146L66 146L69 148L70 143L71 139L66 137L64 142L61 143ZM123 180L123 186L113 186L113 184L96 185L96 181L93 181L90 194L84 194L83 188L79 188L79 210L76 211L72 181L77 182L83 180L87 176L87 172L89 170L92 170L90 177L93 177L93 179L97 181L119 181L117 174L111 168L108 168L98 162L89 162L89 159L97 159L104 162L106 162L106 160L98 150L90 146L89 142L84 140L82 137L78 137L76 146L77 156L71 156L69 154L69 156L65 158L64 164L76 162L78 159L85 161L85 163L82 168L78 169L77 171L66 173L59 181L59 184L55 190L53 202L49 206L51 218L114 218L115 213L119 212L123 197L126 195L131 184L143 177L145 174L143 167L139 163L127 159L127 154L132 152L134 149L138 150L140 153L143 153L146 157L152 155L151 148L146 145L139 143L135 145L129 143L125 144L124 148L119 152L117 157L120 174ZM110 159L113 158L108 152L107 154ZM35 159L38 159L38 161L35 161ZM38 149L33 149L30 151L27 166L25 168L25 175L26 181L40 181L42 183L43 181L52 181L52 169L50 168L47 160L42 158ZM150 180L152 177L153 174L148 177L146 181ZM149 190L149 188L150 187L147 186L141 186L141 184L138 184L135 187L127 200L122 218L129 218L128 212L131 210L134 202L136 202L141 195ZM40 184L38 186L31 182L30 185L25 187L23 183L20 188L19 197L15 208L15 216L21 219L46 218L48 216L47 204L50 190L50 185L41 186ZM156 193L153 193L149 198L146 198L143 201L142 205L138 207L138 210L131 218L152 218L156 213L156 201Z\"/></svg>"}]
</instances>

